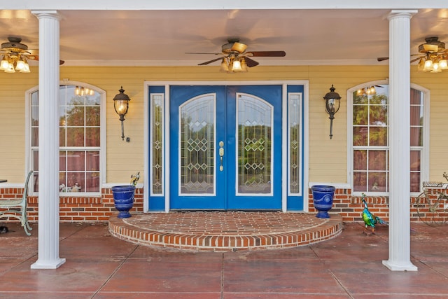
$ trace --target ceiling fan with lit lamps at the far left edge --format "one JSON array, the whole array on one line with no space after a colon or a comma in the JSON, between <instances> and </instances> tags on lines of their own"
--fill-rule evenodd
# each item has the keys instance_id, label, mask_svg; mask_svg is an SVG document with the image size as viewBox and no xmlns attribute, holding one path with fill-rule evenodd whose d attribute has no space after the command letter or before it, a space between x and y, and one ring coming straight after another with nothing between
<instances>
[{"instance_id":1,"label":"ceiling fan with lit lamps at the far left edge","mask_svg":"<svg viewBox=\"0 0 448 299\"><path fill-rule=\"evenodd\" d=\"M22 39L17 36L9 36L8 42L1 44L0 54L3 58L0 61L0 70L6 73L29 73L29 64L27 60L39 60L38 55L31 54L25 43L20 43ZM64 60L59 60L63 64Z\"/></svg>"}]
</instances>

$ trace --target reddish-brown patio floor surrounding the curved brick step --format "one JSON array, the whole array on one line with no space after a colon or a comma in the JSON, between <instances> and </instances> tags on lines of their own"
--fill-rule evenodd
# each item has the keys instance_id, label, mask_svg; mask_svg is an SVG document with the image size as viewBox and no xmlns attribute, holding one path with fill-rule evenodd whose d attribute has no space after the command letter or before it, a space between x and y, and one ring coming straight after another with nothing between
<instances>
[{"instance_id":1,"label":"reddish-brown patio floor surrounding the curved brick step","mask_svg":"<svg viewBox=\"0 0 448 299\"><path fill-rule=\"evenodd\" d=\"M5 225L5 223L0 223ZM107 223L61 223L56 270L31 270L31 237L0 234L0 298L448 298L448 225L412 223L417 272L392 272L388 228L344 223L324 242L290 249L181 252L112 237Z\"/></svg>"}]
</instances>

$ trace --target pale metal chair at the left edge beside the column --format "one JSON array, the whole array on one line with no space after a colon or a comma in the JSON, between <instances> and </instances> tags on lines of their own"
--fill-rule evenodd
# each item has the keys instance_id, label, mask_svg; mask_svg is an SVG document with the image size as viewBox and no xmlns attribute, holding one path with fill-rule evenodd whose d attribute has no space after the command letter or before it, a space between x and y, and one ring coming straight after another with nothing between
<instances>
[{"instance_id":1,"label":"pale metal chair at the left edge beside the column","mask_svg":"<svg viewBox=\"0 0 448 299\"><path fill-rule=\"evenodd\" d=\"M13 217L18 218L20 223L22 224L23 229L27 235L31 235L28 230L32 230L28 223L27 217L27 196L28 196L28 183L29 178L31 178L31 174L33 172L29 172L27 176L27 180L25 181L25 188L23 189L23 195L20 199L8 200L1 199L0 200L0 209L6 209L4 211L0 211L0 218L3 217Z\"/></svg>"}]
</instances>

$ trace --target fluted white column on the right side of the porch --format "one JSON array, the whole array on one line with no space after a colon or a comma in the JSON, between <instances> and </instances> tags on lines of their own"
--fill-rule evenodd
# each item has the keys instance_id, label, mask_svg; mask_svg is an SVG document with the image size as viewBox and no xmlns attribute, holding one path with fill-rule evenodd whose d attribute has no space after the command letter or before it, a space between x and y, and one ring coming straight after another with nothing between
<instances>
[{"instance_id":1,"label":"fluted white column on the right side of the porch","mask_svg":"<svg viewBox=\"0 0 448 299\"><path fill-rule=\"evenodd\" d=\"M416 271L411 263L410 22L417 11L391 11L389 20L389 259L393 271Z\"/></svg>"}]
</instances>

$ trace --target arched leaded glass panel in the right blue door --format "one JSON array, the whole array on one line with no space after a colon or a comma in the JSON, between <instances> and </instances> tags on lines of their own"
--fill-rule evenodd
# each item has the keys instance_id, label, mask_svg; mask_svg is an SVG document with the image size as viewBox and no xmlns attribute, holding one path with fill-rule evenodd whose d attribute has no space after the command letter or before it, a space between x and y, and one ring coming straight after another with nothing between
<instances>
[{"instance_id":1,"label":"arched leaded glass panel in the right blue door","mask_svg":"<svg viewBox=\"0 0 448 299\"><path fill-rule=\"evenodd\" d=\"M271 194L272 106L237 94L237 193Z\"/></svg>"}]
</instances>

